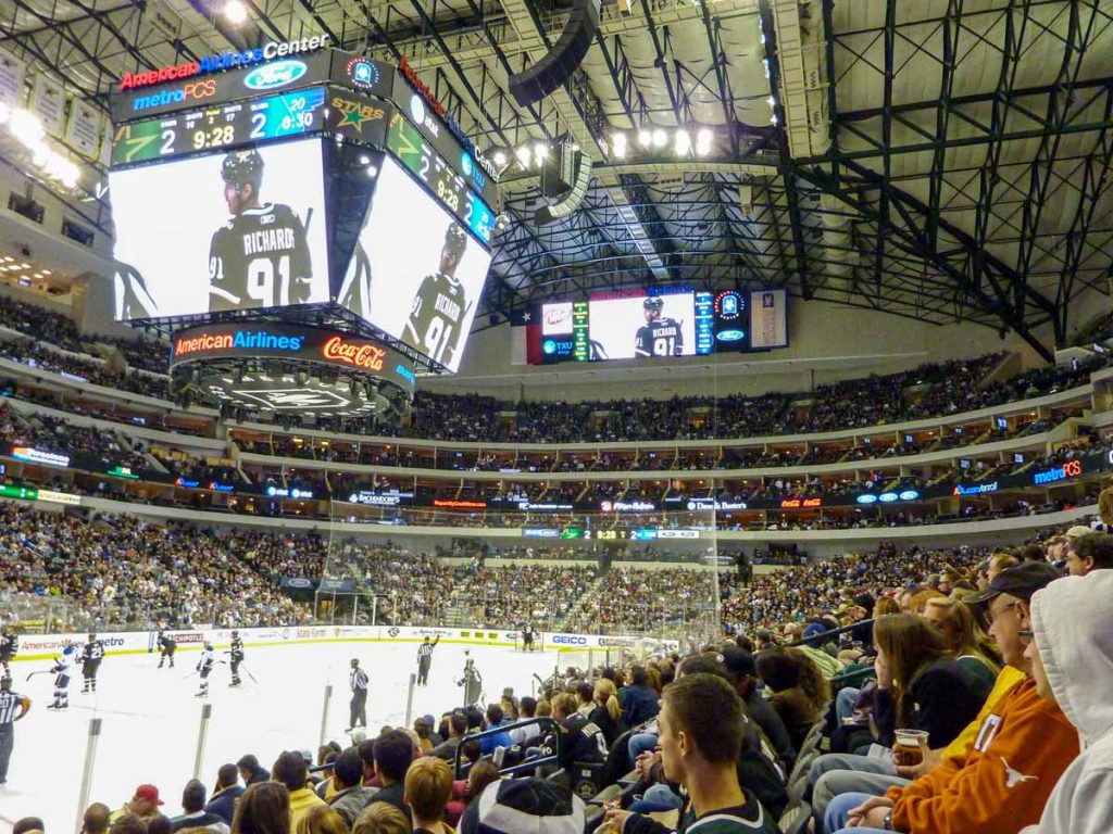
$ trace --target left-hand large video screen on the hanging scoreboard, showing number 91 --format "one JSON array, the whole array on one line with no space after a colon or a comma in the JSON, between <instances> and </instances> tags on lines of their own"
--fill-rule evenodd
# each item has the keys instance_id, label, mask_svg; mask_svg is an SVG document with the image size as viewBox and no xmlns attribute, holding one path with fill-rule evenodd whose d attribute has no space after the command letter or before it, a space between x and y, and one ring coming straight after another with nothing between
<instances>
[{"instance_id":1,"label":"left-hand large video screen on the hanging scoreboard, showing number 91","mask_svg":"<svg viewBox=\"0 0 1113 834\"><path fill-rule=\"evenodd\" d=\"M109 175L118 319L328 300L319 139Z\"/></svg>"}]
</instances>

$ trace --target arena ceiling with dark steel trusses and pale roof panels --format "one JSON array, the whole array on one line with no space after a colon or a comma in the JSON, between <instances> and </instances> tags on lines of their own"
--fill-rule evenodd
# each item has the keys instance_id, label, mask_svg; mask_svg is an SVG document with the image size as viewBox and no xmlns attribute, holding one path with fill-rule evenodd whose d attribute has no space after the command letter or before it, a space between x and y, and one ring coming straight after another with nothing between
<instances>
[{"instance_id":1,"label":"arena ceiling with dark steel trusses and pale roof panels","mask_svg":"<svg viewBox=\"0 0 1113 834\"><path fill-rule=\"evenodd\" d=\"M1071 301L1110 294L1113 0L608 0L530 108L508 75L568 0L244 2L233 28L209 0L0 0L0 42L104 106L128 70L328 32L405 56L481 148L578 143L594 177L563 221L534 225L535 171L504 177L491 321L593 288L787 286L1048 355ZM709 128L712 152L642 149L658 128Z\"/></svg>"}]
</instances>

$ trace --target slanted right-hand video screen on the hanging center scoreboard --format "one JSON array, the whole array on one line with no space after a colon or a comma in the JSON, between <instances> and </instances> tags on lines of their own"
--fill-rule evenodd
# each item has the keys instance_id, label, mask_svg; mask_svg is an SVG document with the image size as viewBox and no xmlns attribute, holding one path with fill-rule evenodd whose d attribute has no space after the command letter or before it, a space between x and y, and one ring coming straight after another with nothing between
<instances>
[{"instance_id":1,"label":"slanted right-hand video screen on the hanging center scoreboard","mask_svg":"<svg viewBox=\"0 0 1113 834\"><path fill-rule=\"evenodd\" d=\"M454 371L490 264L463 225L384 157L337 301Z\"/></svg>"}]
</instances>

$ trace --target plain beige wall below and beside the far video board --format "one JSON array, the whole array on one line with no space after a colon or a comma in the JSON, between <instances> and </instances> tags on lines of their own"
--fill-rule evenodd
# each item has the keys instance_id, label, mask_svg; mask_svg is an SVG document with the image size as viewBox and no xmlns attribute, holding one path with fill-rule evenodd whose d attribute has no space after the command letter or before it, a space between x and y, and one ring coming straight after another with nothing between
<instances>
[{"instance_id":1,"label":"plain beige wall below and beside the far video board","mask_svg":"<svg viewBox=\"0 0 1113 834\"><path fill-rule=\"evenodd\" d=\"M977 325L939 327L796 298L789 306L789 317L790 347L784 350L590 366L511 366L510 326L501 325L472 336L460 374L423 379L422 386L511 400L757 395L770 390L806 391L840 379L890 374L926 361L973 358L998 350L1017 353L1024 367L1038 361L1022 339L1008 335L1003 340L996 330Z\"/></svg>"}]
</instances>

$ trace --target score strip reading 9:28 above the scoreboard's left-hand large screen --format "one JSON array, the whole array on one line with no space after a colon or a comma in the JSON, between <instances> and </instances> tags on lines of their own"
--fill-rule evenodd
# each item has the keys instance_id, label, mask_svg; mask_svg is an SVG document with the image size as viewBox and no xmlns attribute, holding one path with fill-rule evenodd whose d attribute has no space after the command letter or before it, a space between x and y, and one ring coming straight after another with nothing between
<instances>
[{"instance_id":1,"label":"score strip reading 9:28 above the scoreboard's left-hand large screen","mask_svg":"<svg viewBox=\"0 0 1113 834\"><path fill-rule=\"evenodd\" d=\"M121 125L112 141L112 165L170 159L321 130L324 106L325 88L317 87Z\"/></svg>"}]
</instances>

